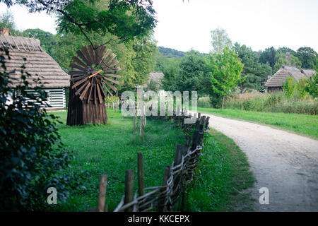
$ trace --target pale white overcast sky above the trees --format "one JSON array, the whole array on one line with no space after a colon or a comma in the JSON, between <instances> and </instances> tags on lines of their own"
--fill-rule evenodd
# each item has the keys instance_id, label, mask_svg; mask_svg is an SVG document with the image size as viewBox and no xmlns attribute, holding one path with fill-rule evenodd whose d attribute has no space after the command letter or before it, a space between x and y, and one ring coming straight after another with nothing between
<instances>
[{"instance_id":1,"label":"pale white overcast sky above the trees","mask_svg":"<svg viewBox=\"0 0 318 226\"><path fill-rule=\"evenodd\" d=\"M153 0L158 46L211 51L211 30L223 28L232 42L257 51L267 47L312 47L318 52L318 0ZM20 30L56 33L54 16L9 9ZM6 5L0 4L0 13Z\"/></svg>"}]
</instances>

